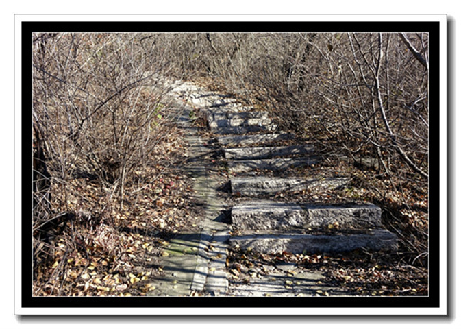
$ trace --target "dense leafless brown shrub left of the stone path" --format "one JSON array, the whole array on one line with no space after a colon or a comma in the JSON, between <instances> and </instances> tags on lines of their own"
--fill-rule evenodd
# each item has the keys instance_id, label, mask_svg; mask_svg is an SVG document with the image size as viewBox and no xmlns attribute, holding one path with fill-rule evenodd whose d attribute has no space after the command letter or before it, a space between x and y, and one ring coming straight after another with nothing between
<instances>
[{"instance_id":1,"label":"dense leafless brown shrub left of the stone path","mask_svg":"<svg viewBox=\"0 0 461 329\"><path fill-rule=\"evenodd\" d=\"M42 132L53 178L95 175L116 184L149 150L165 90L132 34L58 34L34 44L34 126ZM151 61L148 62L147 58Z\"/></svg>"}]
</instances>

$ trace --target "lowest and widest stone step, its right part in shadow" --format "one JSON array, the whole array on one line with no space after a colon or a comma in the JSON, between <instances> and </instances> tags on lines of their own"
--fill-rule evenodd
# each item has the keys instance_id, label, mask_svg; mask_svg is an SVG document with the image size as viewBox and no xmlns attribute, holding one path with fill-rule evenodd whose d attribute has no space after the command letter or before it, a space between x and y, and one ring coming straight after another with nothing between
<instances>
[{"instance_id":1,"label":"lowest and widest stone step, its right part in shadow","mask_svg":"<svg viewBox=\"0 0 461 329\"><path fill-rule=\"evenodd\" d=\"M232 236L229 245L242 250L252 249L264 254L290 252L303 253L336 253L350 252L364 248L371 251L397 250L397 236L388 230L366 230L356 234L249 234Z\"/></svg>"}]
</instances>

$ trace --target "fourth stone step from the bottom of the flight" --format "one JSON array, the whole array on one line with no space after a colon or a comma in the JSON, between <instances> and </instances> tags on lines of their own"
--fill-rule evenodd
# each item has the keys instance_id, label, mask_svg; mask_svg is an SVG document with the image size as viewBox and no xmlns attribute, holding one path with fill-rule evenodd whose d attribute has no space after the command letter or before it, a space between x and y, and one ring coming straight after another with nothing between
<instances>
[{"instance_id":1,"label":"fourth stone step from the bottom of the flight","mask_svg":"<svg viewBox=\"0 0 461 329\"><path fill-rule=\"evenodd\" d=\"M316 157L303 158L276 158L276 159L256 159L256 160L234 160L228 161L227 167L232 173L247 173L255 169L282 171L294 167L302 167L315 164Z\"/></svg>"}]
</instances>

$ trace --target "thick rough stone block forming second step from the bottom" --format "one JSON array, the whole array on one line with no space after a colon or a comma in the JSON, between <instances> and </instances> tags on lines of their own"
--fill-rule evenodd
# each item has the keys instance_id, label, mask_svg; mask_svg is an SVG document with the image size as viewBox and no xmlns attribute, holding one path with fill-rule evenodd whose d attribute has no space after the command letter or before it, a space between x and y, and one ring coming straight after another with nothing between
<instances>
[{"instance_id":1,"label":"thick rough stone block forming second step from the bottom","mask_svg":"<svg viewBox=\"0 0 461 329\"><path fill-rule=\"evenodd\" d=\"M232 207L232 225L241 232L289 232L334 225L339 229L379 228L381 208L373 204L293 204L258 200Z\"/></svg>"}]
</instances>

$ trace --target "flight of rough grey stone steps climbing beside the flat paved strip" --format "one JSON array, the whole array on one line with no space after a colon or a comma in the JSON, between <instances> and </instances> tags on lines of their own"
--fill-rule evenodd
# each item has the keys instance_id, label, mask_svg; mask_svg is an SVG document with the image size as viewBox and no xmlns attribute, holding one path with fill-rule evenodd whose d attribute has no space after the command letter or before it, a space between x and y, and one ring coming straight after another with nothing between
<instances>
[{"instance_id":1,"label":"flight of rough grey stone steps climbing beside the flat paved strip","mask_svg":"<svg viewBox=\"0 0 461 329\"><path fill-rule=\"evenodd\" d=\"M293 136L277 132L267 112L216 103L208 109L207 119L232 175L236 204L231 210L231 246L268 254L397 249L397 236L382 227L381 209L373 204L271 199L280 192L338 188L348 179L287 177L287 169L310 166L319 157L312 145L292 145Z\"/></svg>"}]
</instances>

